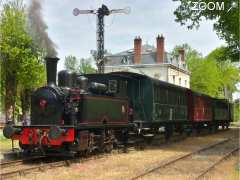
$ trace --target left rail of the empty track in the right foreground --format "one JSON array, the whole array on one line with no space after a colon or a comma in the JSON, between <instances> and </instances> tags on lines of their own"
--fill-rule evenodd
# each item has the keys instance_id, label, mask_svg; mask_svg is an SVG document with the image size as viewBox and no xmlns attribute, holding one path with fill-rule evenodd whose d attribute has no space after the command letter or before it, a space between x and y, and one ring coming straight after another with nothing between
<instances>
[{"instance_id":1,"label":"left rail of the empty track in the right foreground","mask_svg":"<svg viewBox=\"0 0 240 180\"><path fill-rule=\"evenodd\" d=\"M171 164L173 164L173 163L175 163L175 162L177 162L177 161L179 161L179 160L182 160L182 159L184 159L184 158L187 158L187 157L189 157L189 156L191 156L191 155L193 155L193 154L197 154L197 153L199 153L199 152L201 152L201 151L205 151L205 150L210 149L210 148L213 148L213 147L215 147L215 146L217 146L217 145L220 145L220 144L224 144L224 143L226 143L226 142L229 142L229 141L231 141L232 139L234 139L234 138L228 138L228 139L222 140L222 141L220 141L220 142L212 143L212 144L210 144L210 145L208 145L208 146L205 146L205 147L203 147L203 148L200 148L200 149L198 149L198 150L196 150L196 151L193 151L193 152L190 152L190 153L187 153L187 154L184 154L184 155L180 155L180 156L178 156L177 158L174 158L174 159L171 159L171 158L170 158L170 160L168 160L167 162L163 162L163 163L161 163L160 165L158 165L158 166L156 166L156 167L154 167L154 168L152 168L152 169L150 169L150 170L148 170L148 171L145 171L145 172L143 172L142 174L139 174L139 175L131 178L131 180L139 179L139 178L141 178L141 177L143 177L143 176L146 176L146 175L148 175L148 174L150 174L150 173L152 173L152 172L154 172L154 171L156 171L156 170L158 170L158 169L164 168L164 167L166 167L166 166L168 166L168 165L171 165Z\"/></svg>"}]
</instances>

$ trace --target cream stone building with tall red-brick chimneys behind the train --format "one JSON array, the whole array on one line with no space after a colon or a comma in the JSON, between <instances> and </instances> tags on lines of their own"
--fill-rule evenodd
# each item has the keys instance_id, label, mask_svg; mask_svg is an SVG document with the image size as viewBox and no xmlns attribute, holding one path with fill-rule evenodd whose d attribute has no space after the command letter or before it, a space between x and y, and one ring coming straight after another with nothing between
<instances>
[{"instance_id":1,"label":"cream stone building with tall red-brick chimneys behind the train","mask_svg":"<svg viewBox=\"0 0 240 180\"><path fill-rule=\"evenodd\" d=\"M134 39L134 48L108 55L105 72L129 71L148 75L152 78L189 88L190 73L185 63L184 49L173 56L164 49L164 37L156 38L156 47Z\"/></svg>"}]
</instances>

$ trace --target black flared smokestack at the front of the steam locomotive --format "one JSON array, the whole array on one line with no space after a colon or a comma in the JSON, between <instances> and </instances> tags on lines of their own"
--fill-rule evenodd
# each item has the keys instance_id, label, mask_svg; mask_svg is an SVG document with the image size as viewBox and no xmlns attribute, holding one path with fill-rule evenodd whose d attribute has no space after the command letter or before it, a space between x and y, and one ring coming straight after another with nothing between
<instances>
[{"instance_id":1,"label":"black flared smokestack at the front of the steam locomotive","mask_svg":"<svg viewBox=\"0 0 240 180\"><path fill-rule=\"evenodd\" d=\"M56 85L57 76L57 63L59 58L57 57L46 57L46 69L47 69L47 84Z\"/></svg>"}]
</instances>

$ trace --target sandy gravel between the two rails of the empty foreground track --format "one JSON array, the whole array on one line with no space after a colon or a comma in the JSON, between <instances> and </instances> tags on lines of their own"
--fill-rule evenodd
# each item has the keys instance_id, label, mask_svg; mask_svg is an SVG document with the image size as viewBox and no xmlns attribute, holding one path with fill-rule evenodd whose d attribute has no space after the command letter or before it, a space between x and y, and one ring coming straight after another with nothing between
<instances>
[{"instance_id":1,"label":"sandy gravel between the two rails of the empty foreground track","mask_svg":"<svg viewBox=\"0 0 240 180\"><path fill-rule=\"evenodd\" d=\"M165 168L158 169L141 179L196 179L201 172L217 162L221 157L236 148L238 141L228 141L201 151Z\"/></svg>"}]
</instances>

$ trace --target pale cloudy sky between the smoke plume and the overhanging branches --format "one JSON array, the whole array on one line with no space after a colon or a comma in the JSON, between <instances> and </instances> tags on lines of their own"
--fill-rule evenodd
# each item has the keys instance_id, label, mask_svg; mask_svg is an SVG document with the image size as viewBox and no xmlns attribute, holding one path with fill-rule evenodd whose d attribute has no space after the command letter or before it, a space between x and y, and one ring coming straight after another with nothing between
<instances>
[{"instance_id":1,"label":"pale cloudy sky between the smoke plume and the overhanging branches","mask_svg":"<svg viewBox=\"0 0 240 180\"><path fill-rule=\"evenodd\" d=\"M87 58L96 49L96 17L92 14L76 17L72 10L97 9L101 4L109 9L131 8L128 15L112 14L105 18L105 49L111 53L133 48L136 36L142 38L143 44L155 45L158 34L165 37L166 51L188 43L205 56L224 44L213 31L213 22L202 22L198 30L188 30L176 23L173 12L178 2L172 0L45 0L42 13L61 59L58 70L64 68L65 56Z\"/></svg>"}]
</instances>

